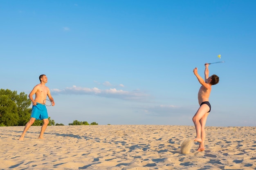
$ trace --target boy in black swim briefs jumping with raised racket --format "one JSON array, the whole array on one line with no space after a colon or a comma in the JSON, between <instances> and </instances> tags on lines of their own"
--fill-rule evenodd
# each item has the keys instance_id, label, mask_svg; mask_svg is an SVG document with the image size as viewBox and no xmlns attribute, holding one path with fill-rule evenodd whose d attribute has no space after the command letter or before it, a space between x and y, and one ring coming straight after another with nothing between
<instances>
[{"instance_id":1,"label":"boy in black swim briefs jumping with raised racket","mask_svg":"<svg viewBox=\"0 0 256 170\"><path fill-rule=\"evenodd\" d=\"M209 97L211 93L211 86L214 84L218 84L219 77L217 75L212 75L209 77L209 64L206 63L204 70L204 79L198 75L198 68L194 68L193 72L195 76L198 78L198 81L202 86L198 91L198 103L200 105L198 111L195 113L193 117L193 122L195 125L196 138L194 141L199 142L198 151L204 151L204 139L205 139L205 124L207 116L211 111L211 105L209 103Z\"/></svg>"}]
</instances>

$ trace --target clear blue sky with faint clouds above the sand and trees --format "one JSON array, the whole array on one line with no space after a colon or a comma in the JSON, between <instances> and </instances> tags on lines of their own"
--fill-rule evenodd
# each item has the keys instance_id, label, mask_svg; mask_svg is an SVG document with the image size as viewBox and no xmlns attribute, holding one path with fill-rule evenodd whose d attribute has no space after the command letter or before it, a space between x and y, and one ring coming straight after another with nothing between
<instances>
[{"instance_id":1,"label":"clear blue sky with faint clouds above the sand and trees","mask_svg":"<svg viewBox=\"0 0 256 170\"><path fill-rule=\"evenodd\" d=\"M0 2L0 88L39 75L56 123L193 125L200 84L220 77L207 126L256 126L254 0ZM221 59L217 56L221 54Z\"/></svg>"}]
</instances>

